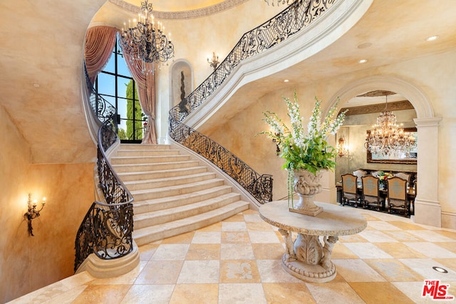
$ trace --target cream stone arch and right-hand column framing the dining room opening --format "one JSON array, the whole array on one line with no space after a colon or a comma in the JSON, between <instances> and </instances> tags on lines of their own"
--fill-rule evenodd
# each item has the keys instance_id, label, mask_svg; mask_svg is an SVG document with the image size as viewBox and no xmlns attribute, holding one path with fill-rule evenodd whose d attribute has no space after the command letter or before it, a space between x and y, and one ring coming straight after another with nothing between
<instances>
[{"instance_id":1,"label":"cream stone arch and right-hand column framing the dining room opening","mask_svg":"<svg viewBox=\"0 0 456 304\"><path fill-rule=\"evenodd\" d=\"M354 96L373 90L390 90L405 96L415 108L417 118L415 125L418 130L418 194L415 199L415 217L418 224L442 226L442 209L438 200L438 132L441 117L435 117L430 100L425 93L407 81L388 75L371 76L348 83L333 95L324 115L340 100L339 108ZM329 192L336 191L333 187L334 173L325 179ZM331 184L332 183L332 184ZM331 194L331 197L335 194Z\"/></svg>"}]
</instances>

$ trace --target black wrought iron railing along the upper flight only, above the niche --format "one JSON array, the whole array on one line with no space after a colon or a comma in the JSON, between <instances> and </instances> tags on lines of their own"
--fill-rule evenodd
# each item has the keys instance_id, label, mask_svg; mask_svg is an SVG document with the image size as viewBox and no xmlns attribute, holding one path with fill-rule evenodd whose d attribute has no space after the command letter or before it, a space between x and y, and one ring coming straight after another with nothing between
<instances>
[{"instance_id":1,"label":"black wrought iron railing along the upper flight only, above the niche","mask_svg":"<svg viewBox=\"0 0 456 304\"><path fill-rule=\"evenodd\" d=\"M184 120L219 88L241 61L285 41L321 16L337 0L296 0L279 14L252 31L244 33L227 58L201 85L172 108L172 116Z\"/></svg>"}]
</instances>

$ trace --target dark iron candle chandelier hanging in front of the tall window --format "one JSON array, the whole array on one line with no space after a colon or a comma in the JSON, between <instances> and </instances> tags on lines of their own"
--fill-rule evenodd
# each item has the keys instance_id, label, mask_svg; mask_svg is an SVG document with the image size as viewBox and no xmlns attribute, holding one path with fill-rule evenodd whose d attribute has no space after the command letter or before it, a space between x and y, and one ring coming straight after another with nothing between
<instances>
[{"instance_id":1,"label":"dark iron candle chandelier hanging in front of the tall window","mask_svg":"<svg viewBox=\"0 0 456 304\"><path fill-rule=\"evenodd\" d=\"M133 60L145 63L164 63L174 57L174 45L170 38L165 36L165 26L154 21L152 3L148 0L141 2L141 12L138 20L133 19L124 23L120 46L124 53L128 53Z\"/></svg>"}]
</instances>

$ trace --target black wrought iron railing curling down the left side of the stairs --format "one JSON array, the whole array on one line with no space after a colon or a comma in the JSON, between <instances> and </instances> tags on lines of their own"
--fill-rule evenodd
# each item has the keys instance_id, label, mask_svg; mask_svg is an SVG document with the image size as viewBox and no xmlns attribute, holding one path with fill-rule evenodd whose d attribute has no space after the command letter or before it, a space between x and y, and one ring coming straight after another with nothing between
<instances>
[{"instance_id":1,"label":"black wrought iron railing curling down the left side of the stairs","mask_svg":"<svg viewBox=\"0 0 456 304\"><path fill-rule=\"evenodd\" d=\"M86 74L86 79L88 79ZM89 88L92 88L90 80ZM103 122L98 130L98 187L105 203L94 201L76 234L74 271L91 254L104 260L120 258L133 251L133 196L120 180L105 151L117 140L113 127L115 108L106 100L90 92L90 105Z\"/></svg>"}]
</instances>

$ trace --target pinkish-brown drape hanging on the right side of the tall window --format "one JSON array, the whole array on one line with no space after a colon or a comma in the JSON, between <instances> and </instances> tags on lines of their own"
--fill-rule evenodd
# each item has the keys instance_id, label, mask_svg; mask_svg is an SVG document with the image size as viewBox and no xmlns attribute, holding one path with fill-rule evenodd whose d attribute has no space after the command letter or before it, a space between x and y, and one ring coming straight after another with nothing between
<instances>
[{"instance_id":1,"label":"pinkish-brown drape hanging on the right side of the tall window","mask_svg":"<svg viewBox=\"0 0 456 304\"><path fill-rule=\"evenodd\" d=\"M132 60L130 54L123 50L123 56L127 63L128 70L136 82L141 108L147 115L143 144L156 144L157 132L155 130L155 77L153 73L146 73L153 69L155 63Z\"/></svg>"}]
</instances>

